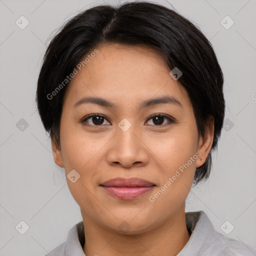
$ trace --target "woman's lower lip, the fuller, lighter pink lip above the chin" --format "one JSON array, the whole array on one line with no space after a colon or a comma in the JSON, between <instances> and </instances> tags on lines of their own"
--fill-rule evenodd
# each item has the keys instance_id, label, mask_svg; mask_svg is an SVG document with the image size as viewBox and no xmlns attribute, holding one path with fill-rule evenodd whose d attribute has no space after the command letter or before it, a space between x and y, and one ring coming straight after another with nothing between
<instances>
[{"instance_id":1,"label":"woman's lower lip, the fuller, lighter pink lip above the chin","mask_svg":"<svg viewBox=\"0 0 256 256\"><path fill-rule=\"evenodd\" d=\"M133 187L118 187L118 186L102 186L109 194L119 199L134 199L148 191L154 186L133 186Z\"/></svg>"}]
</instances>

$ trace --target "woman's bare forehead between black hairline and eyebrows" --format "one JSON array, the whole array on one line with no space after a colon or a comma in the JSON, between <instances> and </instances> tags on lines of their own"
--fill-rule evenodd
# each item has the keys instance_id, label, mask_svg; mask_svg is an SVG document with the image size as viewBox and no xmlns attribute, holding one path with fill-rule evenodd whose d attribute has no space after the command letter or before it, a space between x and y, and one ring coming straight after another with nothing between
<instances>
[{"instance_id":1,"label":"woman's bare forehead between black hairline and eyebrows","mask_svg":"<svg viewBox=\"0 0 256 256\"><path fill-rule=\"evenodd\" d=\"M74 101L87 94L129 102L163 94L175 95L179 101L187 98L185 89L169 75L169 67L156 50L117 43L103 44L96 49L98 52L72 78L66 98ZM94 48L86 56L93 51Z\"/></svg>"}]
</instances>

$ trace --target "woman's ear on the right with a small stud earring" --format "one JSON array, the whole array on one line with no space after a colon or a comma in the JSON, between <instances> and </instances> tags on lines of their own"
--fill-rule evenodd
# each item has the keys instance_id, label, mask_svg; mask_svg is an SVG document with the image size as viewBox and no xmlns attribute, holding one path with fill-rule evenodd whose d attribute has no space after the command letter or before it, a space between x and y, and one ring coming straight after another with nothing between
<instances>
[{"instance_id":1,"label":"woman's ear on the right with a small stud earring","mask_svg":"<svg viewBox=\"0 0 256 256\"><path fill-rule=\"evenodd\" d=\"M209 116L207 123L204 127L204 136L200 136L198 139L198 148L197 151L201 152L200 156L196 159L196 168L200 167L207 158L211 145L213 142L213 132L214 132L214 118ZM202 161L201 161L202 160Z\"/></svg>"}]
</instances>

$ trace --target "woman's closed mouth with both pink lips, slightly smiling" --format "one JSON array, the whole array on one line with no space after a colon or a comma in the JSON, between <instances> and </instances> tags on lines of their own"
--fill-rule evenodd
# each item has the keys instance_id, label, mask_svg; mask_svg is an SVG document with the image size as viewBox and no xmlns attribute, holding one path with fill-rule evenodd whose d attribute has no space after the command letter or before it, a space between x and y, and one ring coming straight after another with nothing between
<instances>
[{"instance_id":1,"label":"woman's closed mouth with both pink lips, slightly smiling","mask_svg":"<svg viewBox=\"0 0 256 256\"><path fill-rule=\"evenodd\" d=\"M152 190L155 184L141 178L114 178L100 186L111 196L118 199L135 199Z\"/></svg>"}]
</instances>

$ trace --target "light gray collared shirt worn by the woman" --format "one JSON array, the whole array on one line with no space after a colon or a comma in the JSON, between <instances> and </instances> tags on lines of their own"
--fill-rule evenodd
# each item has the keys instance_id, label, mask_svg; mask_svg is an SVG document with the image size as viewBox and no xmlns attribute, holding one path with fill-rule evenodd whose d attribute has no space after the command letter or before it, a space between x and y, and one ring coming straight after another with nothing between
<instances>
[{"instance_id":1,"label":"light gray collared shirt worn by the woman","mask_svg":"<svg viewBox=\"0 0 256 256\"><path fill-rule=\"evenodd\" d=\"M185 218L191 235L177 256L256 256L255 248L215 231L203 211L186 212ZM84 242L84 226L80 221L69 230L66 241L45 256L86 256L82 250Z\"/></svg>"}]
</instances>

